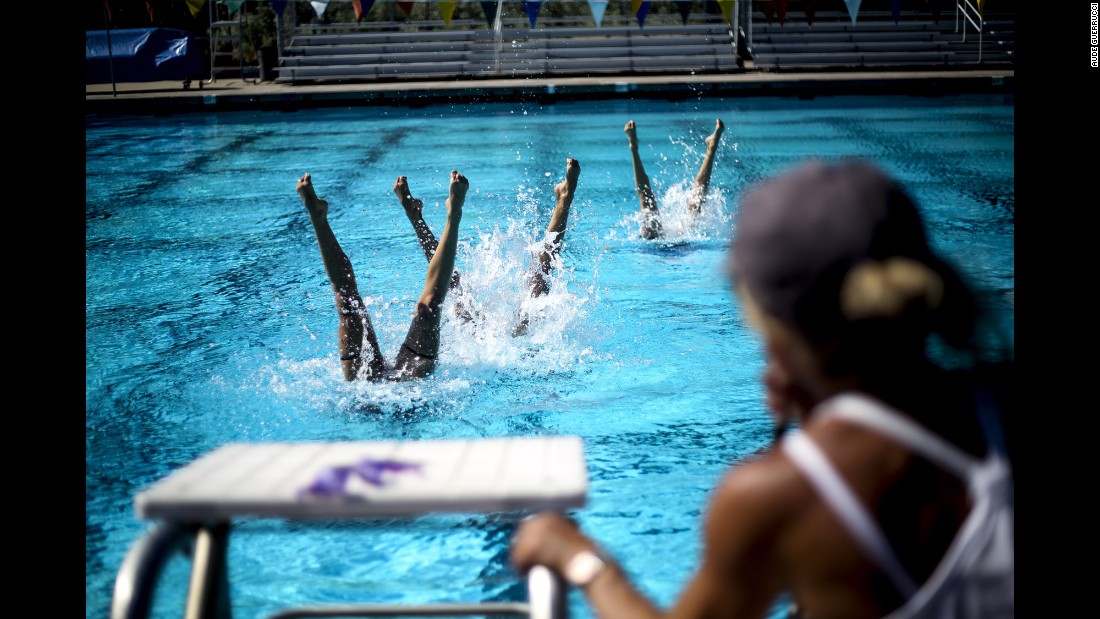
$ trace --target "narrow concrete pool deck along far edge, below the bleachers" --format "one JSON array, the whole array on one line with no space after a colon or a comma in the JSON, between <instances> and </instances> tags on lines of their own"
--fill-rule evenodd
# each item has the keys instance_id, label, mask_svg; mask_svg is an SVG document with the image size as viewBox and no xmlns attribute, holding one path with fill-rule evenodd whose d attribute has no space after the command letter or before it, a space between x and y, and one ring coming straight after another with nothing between
<instances>
[{"instance_id":1,"label":"narrow concrete pool deck along far edge, below the bleachers","mask_svg":"<svg viewBox=\"0 0 1100 619\"><path fill-rule=\"evenodd\" d=\"M1014 93L1011 67L949 70L861 69L722 75L601 75L592 77L282 84L240 78L85 86L86 113L296 110L320 107L410 106L488 101L556 101L702 97L906 93Z\"/></svg>"}]
</instances>

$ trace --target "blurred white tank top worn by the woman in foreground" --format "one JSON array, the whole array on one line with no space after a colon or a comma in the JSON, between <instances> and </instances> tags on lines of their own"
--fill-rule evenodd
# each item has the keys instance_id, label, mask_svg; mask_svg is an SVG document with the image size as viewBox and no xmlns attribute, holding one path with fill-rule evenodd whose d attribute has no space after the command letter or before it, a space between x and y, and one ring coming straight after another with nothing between
<instances>
[{"instance_id":1,"label":"blurred white tank top worn by the woman in foreground","mask_svg":"<svg viewBox=\"0 0 1100 619\"><path fill-rule=\"evenodd\" d=\"M1012 473L993 411L982 404L978 409L992 445L985 460L864 395L839 394L820 404L814 412L815 417L842 418L897 440L967 483L970 513L924 586L917 586L898 561L878 522L810 436L796 432L783 439L783 452L906 598L887 619L1013 617Z\"/></svg>"}]
</instances>

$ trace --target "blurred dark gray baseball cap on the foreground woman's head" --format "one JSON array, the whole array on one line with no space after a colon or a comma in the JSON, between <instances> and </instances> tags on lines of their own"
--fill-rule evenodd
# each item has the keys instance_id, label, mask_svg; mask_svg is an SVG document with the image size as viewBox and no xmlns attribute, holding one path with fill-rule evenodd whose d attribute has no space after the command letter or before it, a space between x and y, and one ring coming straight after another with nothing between
<instances>
[{"instance_id":1,"label":"blurred dark gray baseball cap on the foreground woman's head","mask_svg":"<svg viewBox=\"0 0 1100 619\"><path fill-rule=\"evenodd\" d=\"M817 338L843 323L848 270L893 256L943 266L904 189L869 162L815 161L741 198L727 267L765 312Z\"/></svg>"}]
</instances>

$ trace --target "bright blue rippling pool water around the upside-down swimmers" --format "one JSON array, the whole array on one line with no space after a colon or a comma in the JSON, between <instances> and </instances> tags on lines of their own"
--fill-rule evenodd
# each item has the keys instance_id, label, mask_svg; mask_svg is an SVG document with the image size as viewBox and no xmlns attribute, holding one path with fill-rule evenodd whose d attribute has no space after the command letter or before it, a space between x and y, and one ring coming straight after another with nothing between
<instances>
[{"instance_id":1,"label":"bright blue rippling pool water around the upside-down swimmers","mask_svg":"<svg viewBox=\"0 0 1100 619\"><path fill-rule=\"evenodd\" d=\"M684 198L715 118L727 130L693 223ZM637 234L629 119L663 208L661 241ZM88 117L87 617L108 617L119 565L148 526L133 495L235 441L580 435L591 491L575 518L642 592L671 604L697 562L711 488L770 436L763 354L722 275L740 191L807 156L878 159L1011 338L1013 133L1004 96ZM522 274L566 157L582 166L576 200L551 292L532 300ZM438 233L452 168L470 179L458 269L484 320L444 321L428 379L346 384L295 181L311 173L329 200L392 360L426 268L392 186L409 177ZM520 309L531 329L513 338ZM241 523L234 617L517 599L515 518ZM179 616L186 568L169 565L156 617ZM575 592L570 607L591 617Z\"/></svg>"}]
</instances>

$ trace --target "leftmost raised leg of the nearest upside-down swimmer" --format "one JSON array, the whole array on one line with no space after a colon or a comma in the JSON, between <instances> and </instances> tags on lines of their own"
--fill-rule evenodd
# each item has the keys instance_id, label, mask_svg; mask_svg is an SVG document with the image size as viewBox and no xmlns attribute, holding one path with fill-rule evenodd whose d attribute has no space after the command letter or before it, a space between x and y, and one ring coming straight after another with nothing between
<instances>
[{"instance_id":1,"label":"leftmost raised leg of the nearest upside-down swimmer","mask_svg":"<svg viewBox=\"0 0 1100 619\"><path fill-rule=\"evenodd\" d=\"M367 316L363 299L359 295L359 286L355 283L355 273L352 270L351 261L348 259L348 255L337 242L332 228L329 226L329 203L317 197L309 173L298 179L295 189L301 197L301 203L306 206L309 221L314 224L317 246L321 251L321 261L324 263L324 273L328 274L329 281L332 284L337 314L340 318L337 341L340 346L340 365L343 367L344 378L354 380L364 362L372 376L382 376L385 363L382 358L382 351L378 349L378 338L374 333L371 317Z\"/></svg>"}]
</instances>

